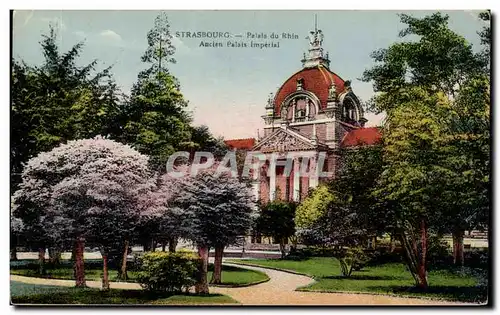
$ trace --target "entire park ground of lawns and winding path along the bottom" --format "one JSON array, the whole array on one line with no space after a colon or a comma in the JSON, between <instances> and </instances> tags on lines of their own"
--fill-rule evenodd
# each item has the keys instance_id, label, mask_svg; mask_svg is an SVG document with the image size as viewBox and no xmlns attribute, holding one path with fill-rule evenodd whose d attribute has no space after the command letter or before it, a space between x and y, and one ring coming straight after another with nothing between
<instances>
[{"instance_id":1,"label":"entire park ground of lawns and winding path along the bottom","mask_svg":"<svg viewBox=\"0 0 500 315\"><path fill-rule=\"evenodd\" d=\"M14 304L140 305L478 305L486 299L478 279L452 271L431 271L431 289L415 291L402 264L366 267L349 279L340 277L338 261L327 257L225 260L224 264L224 285L211 286L209 296L151 296L133 282L133 272L128 282L114 281L111 290L103 293L97 268L87 269L90 288L81 290L72 288L71 268L54 269L46 278L39 278L36 272L19 266L11 269L11 296Z\"/></svg>"}]
</instances>

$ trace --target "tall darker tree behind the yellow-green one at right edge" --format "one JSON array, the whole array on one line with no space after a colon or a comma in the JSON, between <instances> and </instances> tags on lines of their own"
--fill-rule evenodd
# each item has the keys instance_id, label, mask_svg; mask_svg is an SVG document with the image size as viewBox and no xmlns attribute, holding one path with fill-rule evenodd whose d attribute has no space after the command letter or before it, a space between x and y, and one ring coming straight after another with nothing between
<instances>
[{"instance_id":1,"label":"tall darker tree behind the yellow-green one at right edge","mask_svg":"<svg viewBox=\"0 0 500 315\"><path fill-rule=\"evenodd\" d=\"M487 21L489 14L482 13L480 18ZM448 182L442 181L440 183L440 187L446 188L448 193L443 191L438 199L443 207L450 211L446 217L441 217L439 222L447 222L448 232L453 232L454 248L459 249L455 250L455 260L463 263L463 254L461 253L463 253L464 227L474 226L471 223L474 221L471 219L471 213L477 213L476 210L479 208L473 210L470 201L467 201L469 198L457 196L456 192L468 187L468 191L472 195L484 195L483 187L474 184L474 182L481 181L480 177L473 178L463 175L478 174L473 169L484 169L484 165L488 164L487 159L489 159L487 154L476 155L474 158L470 154L467 154L469 158L465 158L466 155L463 155L468 146L481 146L477 135L482 134L480 138L488 138L484 129L480 131L476 128L473 132L476 136L471 136L470 131L464 132L471 126L471 120L474 119L474 115L469 115L471 110L477 108L478 104L482 104L479 106L483 108L478 113L484 113L485 108L489 110L489 103L484 102L484 98L483 101L476 102L476 105L466 105L464 100L472 100L466 96L471 95L471 92L475 95L481 95L481 90L484 90L473 91L474 89L470 88L474 85L473 82L476 82L475 86L478 87L477 83L482 80L478 80L478 78L489 80L491 34L489 27L485 27L480 32L485 49L481 53L474 53L471 44L449 29L447 15L435 13L424 18L415 18L402 14L401 21L406 24L406 28L400 32L400 36L402 38L416 36L417 39L395 43L386 49L374 52L372 57L376 65L364 72L363 80L373 82L374 90L378 92L370 102L372 110L385 111L389 121L391 116L401 115L401 107L407 106L409 98L413 97L416 91L418 91L416 92L417 99L418 95L423 95L423 92L427 93L427 97L424 98L446 97L448 99L447 102L451 106L445 112L434 111L434 115L440 116L439 121L436 121L436 128L445 131L448 135L448 138L443 138L446 140L442 139L444 141L443 147L448 149L447 160L441 159L439 161L440 167L448 169L450 172L449 176L442 178ZM425 107L429 103L423 101L420 104L420 106ZM422 110L428 111L428 109ZM421 127L416 120L413 123L415 125L412 128L415 130ZM489 126L489 123L485 123L484 119L480 124L484 128ZM469 137L466 137L465 134L469 134ZM475 150L475 152L478 151ZM471 188L473 189L471 190ZM474 217L478 218L475 215ZM442 230L444 227L441 224L436 228Z\"/></svg>"}]
</instances>

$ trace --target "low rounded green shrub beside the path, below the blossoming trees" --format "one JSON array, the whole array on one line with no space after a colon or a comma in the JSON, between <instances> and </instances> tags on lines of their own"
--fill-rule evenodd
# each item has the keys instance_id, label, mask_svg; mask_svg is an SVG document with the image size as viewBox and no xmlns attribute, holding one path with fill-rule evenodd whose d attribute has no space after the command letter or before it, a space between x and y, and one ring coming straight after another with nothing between
<instances>
[{"instance_id":1,"label":"low rounded green shrub beside the path, below the blossoming trees","mask_svg":"<svg viewBox=\"0 0 500 315\"><path fill-rule=\"evenodd\" d=\"M197 282L199 257L187 252L148 252L141 257L137 281L148 291L178 293Z\"/></svg>"}]
</instances>

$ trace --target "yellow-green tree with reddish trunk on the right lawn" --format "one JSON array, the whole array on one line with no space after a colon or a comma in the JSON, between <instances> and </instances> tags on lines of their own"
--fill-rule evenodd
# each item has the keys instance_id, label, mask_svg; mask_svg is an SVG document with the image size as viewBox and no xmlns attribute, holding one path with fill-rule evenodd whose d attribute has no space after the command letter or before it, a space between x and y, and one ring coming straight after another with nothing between
<instances>
[{"instance_id":1,"label":"yellow-green tree with reddish trunk on the right lawn","mask_svg":"<svg viewBox=\"0 0 500 315\"><path fill-rule=\"evenodd\" d=\"M447 224L439 201L454 173L443 160L449 156L448 134L442 123L450 103L443 93L406 91L408 100L391 112L384 129L384 168L374 195L391 204L393 222L406 250L416 285L428 286L426 254L429 227Z\"/></svg>"}]
</instances>

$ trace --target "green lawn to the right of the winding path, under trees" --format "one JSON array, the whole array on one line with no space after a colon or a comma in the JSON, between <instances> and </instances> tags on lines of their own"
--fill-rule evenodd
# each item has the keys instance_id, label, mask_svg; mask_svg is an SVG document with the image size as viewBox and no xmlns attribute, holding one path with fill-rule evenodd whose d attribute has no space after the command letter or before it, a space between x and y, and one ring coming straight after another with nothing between
<instances>
[{"instance_id":1,"label":"green lawn to the right of the winding path, under trees","mask_svg":"<svg viewBox=\"0 0 500 315\"><path fill-rule=\"evenodd\" d=\"M312 257L302 261L252 259L232 262L295 271L316 280L300 288L301 291L396 294L464 302L484 302L487 296L486 287L480 286L475 277L451 270L430 271L429 288L418 290L410 272L400 263L365 267L345 278L340 275L339 261L332 257Z\"/></svg>"}]
</instances>

